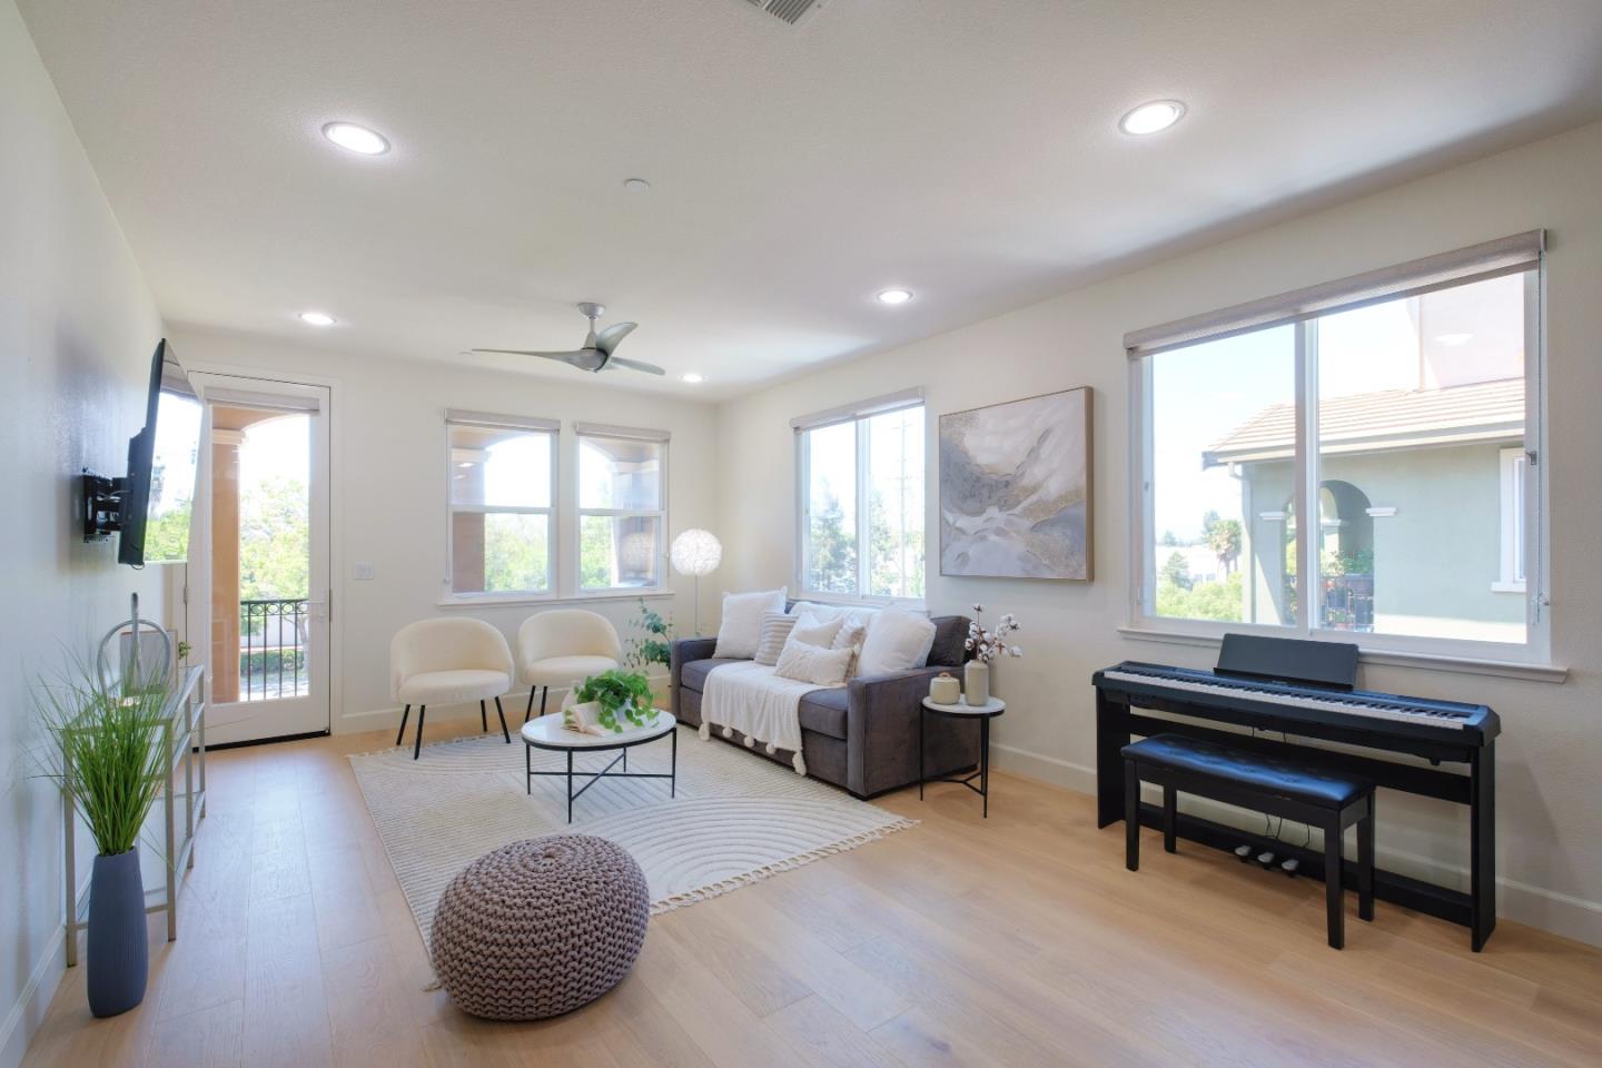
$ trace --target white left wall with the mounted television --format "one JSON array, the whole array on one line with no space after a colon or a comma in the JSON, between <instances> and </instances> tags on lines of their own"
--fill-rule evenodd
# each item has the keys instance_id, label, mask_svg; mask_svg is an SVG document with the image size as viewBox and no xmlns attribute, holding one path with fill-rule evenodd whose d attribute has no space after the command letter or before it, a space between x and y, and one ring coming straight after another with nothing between
<instances>
[{"instance_id":1,"label":"white left wall with the mounted television","mask_svg":"<svg viewBox=\"0 0 1602 1068\"><path fill-rule=\"evenodd\" d=\"M61 799L34 778L32 687L85 653L157 570L83 544L80 468L123 474L162 322L11 0L0 0L0 1065L21 1060L62 974Z\"/></svg>"}]
</instances>

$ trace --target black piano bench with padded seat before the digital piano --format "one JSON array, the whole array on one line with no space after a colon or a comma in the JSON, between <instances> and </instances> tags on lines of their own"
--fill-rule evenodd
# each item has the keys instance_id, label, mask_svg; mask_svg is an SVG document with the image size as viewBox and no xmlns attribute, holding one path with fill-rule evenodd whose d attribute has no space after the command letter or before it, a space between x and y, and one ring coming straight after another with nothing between
<instances>
[{"instance_id":1,"label":"black piano bench with padded seat before the digital piano","mask_svg":"<svg viewBox=\"0 0 1602 1068\"><path fill-rule=\"evenodd\" d=\"M1163 849L1176 852L1177 794L1195 794L1323 831L1330 945L1346 943L1341 839L1357 825L1357 914L1375 917L1375 785L1280 757L1182 735L1153 735L1123 749L1125 866L1141 868L1141 783L1163 788Z\"/></svg>"}]
</instances>

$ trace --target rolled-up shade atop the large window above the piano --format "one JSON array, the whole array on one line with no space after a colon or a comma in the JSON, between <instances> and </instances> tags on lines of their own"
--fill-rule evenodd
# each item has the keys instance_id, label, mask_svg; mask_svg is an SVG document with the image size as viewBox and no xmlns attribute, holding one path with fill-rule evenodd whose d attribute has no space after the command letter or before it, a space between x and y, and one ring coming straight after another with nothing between
<instances>
[{"instance_id":1,"label":"rolled-up shade atop the large window above the piano","mask_svg":"<svg viewBox=\"0 0 1602 1068\"><path fill-rule=\"evenodd\" d=\"M1338 282L1310 285L1222 311L1176 319L1160 327L1134 330L1123 336L1123 347L1131 357L1150 355L1198 341L1216 341L1251 330L1350 311L1363 304L1532 271L1541 264L1544 248L1546 231L1514 234L1394 267L1354 274Z\"/></svg>"}]
</instances>

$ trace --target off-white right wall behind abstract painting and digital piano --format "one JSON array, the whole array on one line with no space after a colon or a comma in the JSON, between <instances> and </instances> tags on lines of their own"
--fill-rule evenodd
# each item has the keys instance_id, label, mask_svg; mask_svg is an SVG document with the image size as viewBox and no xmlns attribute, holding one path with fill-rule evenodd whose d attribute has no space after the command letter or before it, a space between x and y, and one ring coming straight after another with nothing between
<instances>
[{"instance_id":1,"label":"off-white right wall behind abstract painting and digital piano","mask_svg":"<svg viewBox=\"0 0 1602 1068\"><path fill-rule=\"evenodd\" d=\"M1053 389L1096 389L1096 581L956 580L929 575L929 607L982 600L1014 612L1027 658L996 668L1008 698L998 764L1078 789L1094 788L1091 673L1125 658L1210 666L1206 648L1123 639L1128 623L1129 458L1123 333L1250 298L1326 282L1520 231L1546 227L1552 653L1564 685L1442 671L1367 668L1363 684L1487 701L1499 741L1503 914L1602 945L1602 125L1399 186L1347 205L1065 293L963 330L731 402L719 415L718 530L731 588L793 581L791 416L923 386L929 405L929 516L936 532L936 420L940 412ZM910 264L916 274L916 264ZM931 299L939 299L937 296ZM894 311L886 311L894 314ZM931 544L928 557L937 559ZM1004 805L1004 789L996 804ZM1461 879L1464 813L1386 796L1379 844L1387 866ZM1107 849L1118 849L1110 837Z\"/></svg>"}]
</instances>

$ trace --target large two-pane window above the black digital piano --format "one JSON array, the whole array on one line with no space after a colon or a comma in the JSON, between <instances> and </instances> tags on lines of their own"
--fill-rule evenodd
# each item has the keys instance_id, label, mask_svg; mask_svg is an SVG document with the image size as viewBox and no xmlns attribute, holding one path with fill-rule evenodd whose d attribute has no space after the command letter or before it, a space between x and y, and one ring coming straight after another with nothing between
<instances>
[{"instance_id":1,"label":"large two-pane window above the black digital piano","mask_svg":"<svg viewBox=\"0 0 1602 1068\"><path fill-rule=\"evenodd\" d=\"M1530 647L1538 287L1533 234L1129 335L1137 616Z\"/></svg>"}]
</instances>

